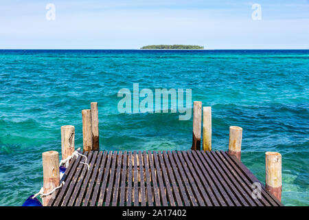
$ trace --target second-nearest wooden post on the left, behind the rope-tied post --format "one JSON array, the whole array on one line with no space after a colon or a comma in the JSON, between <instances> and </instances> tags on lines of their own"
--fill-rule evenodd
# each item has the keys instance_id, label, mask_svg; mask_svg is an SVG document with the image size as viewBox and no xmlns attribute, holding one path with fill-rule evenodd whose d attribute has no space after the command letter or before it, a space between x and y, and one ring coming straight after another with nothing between
<instances>
[{"instance_id":1,"label":"second-nearest wooden post on the left, behind the rope-tied post","mask_svg":"<svg viewBox=\"0 0 309 220\"><path fill-rule=\"evenodd\" d=\"M61 126L61 154L62 159L67 159L75 151L75 127L73 125Z\"/></svg>"}]
</instances>

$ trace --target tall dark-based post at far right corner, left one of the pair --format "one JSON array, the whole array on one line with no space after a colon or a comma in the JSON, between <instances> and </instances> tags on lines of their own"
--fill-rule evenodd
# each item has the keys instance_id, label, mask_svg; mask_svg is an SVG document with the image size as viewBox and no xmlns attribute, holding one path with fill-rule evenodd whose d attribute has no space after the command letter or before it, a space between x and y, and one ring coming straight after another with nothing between
<instances>
[{"instance_id":1,"label":"tall dark-based post at far right corner, left one of the pair","mask_svg":"<svg viewBox=\"0 0 309 220\"><path fill-rule=\"evenodd\" d=\"M202 102L193 102L192 150L201 151Z\"/></svg>"}]
</instances>

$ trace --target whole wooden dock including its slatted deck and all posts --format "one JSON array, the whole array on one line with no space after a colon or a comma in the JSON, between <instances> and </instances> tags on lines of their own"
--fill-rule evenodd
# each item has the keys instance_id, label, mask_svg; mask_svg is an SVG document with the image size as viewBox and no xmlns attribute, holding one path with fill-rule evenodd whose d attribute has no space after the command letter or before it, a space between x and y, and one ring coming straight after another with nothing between
<instances>
[{"instance_id":1,"label":"whole wooden dock including its slatted deck and all posts","mask_svg":"<svg viewBox=\"0 0 309 220\"><path fill-rule=\"evenodd\" d=\"M194 102L189 151L99 151L98 103L75 127L61 127L62 160L43 153L43 206L282 206L282 156L265 153L266 186L242 164L242 128L229 127L229 150L211 150L211 107ZM104 148L104 147L103 147ZM59 167L60 166L60 167ZM66 168L60 179L60 168ZM35 198L35 197L34 197Z\"/></svg>"}]
</instances>

